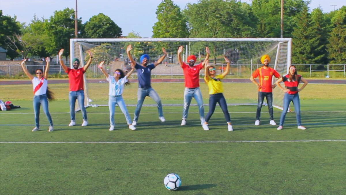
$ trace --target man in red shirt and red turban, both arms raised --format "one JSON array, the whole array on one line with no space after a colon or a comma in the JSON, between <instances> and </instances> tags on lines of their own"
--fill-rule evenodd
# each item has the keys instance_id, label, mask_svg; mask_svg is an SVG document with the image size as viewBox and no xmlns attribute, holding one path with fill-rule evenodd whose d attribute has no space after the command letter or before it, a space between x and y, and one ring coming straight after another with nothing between
<instances>
[{"instance_id":1,"label":"man in red shirt and red turban, both arms raised","mask_svg":"<svg viewBox=\"0 0 346 195\"><path fill-rule=\"evenodd\" d=\"M188 112L189 112L189 107L190 107L192 97L197 102L201 125L203 125L204 106L203 106L202 93L199 88L199 71L202 68L204 68L204 65L209 59L210 51L209 51L209 48L206 47L206 53L207 53L206 58L203 60L202 63L199 63L198 65L194 65L194 63L196 62L196 57L194 55L191 55L187 58L187 62L189 64L184 63L180 56L182 52L183 52L183 46L180 46L178 49L178 60L180 63L180 67L184 71L184 78L185 78L184 107L183 107L183 118L181 121L181 125L186 125L186 119L188 118Z\"/></svg>"}]
</instances>

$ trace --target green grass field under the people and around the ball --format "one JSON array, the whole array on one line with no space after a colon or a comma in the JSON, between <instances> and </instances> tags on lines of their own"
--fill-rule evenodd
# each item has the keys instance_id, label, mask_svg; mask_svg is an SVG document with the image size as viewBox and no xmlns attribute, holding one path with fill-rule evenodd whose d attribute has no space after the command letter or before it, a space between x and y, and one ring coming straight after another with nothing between
<instances>
[{"instance_id":1,"label":"green grass field under the people and around the ball","mask_svg":"<svg viewBox=\"0 0 346 195\"><path fill-rule=\"evenodd\" d=\"M232 84L227 103L256 101L256 92L244 90L245 85ZM346 194L345 85L308 85L300 92L307 130L297 129L294 112L287 114L284 129L276 130L268 124L267 107L261 125L254 126L256 106L230 106L233 132L227 131L220 108L204 131L197 107L190 108L186 126L180 126L181 107L164 107L164 123L156 108L144 107L137 130L131 131L117 107L116 130L110 132L108 108L98 107L87 109L87 127L80 126L81 113L76 113L77 125L68 127L66 86L49 86L57 97L49 103L55 130L47 131L42 112L42 130L31 132L31 85L0 85L0 99L21 106L0 111L1 195ZM163 103L182 103L176 86L170 93L164 86L154 88ZM128 107L131 118L134 109ZM277 123L280 114L274 109ZM182 179L175 192L163 185L171 172Z\"/></svg>"}]
</instances>

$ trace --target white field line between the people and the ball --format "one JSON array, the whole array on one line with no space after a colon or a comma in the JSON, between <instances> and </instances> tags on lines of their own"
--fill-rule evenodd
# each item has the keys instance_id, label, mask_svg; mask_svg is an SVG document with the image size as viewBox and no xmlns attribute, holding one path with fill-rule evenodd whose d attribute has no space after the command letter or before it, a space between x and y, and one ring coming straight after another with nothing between
<instances>
[{"instance_id":1,"label":"white field line between the people and the ball","mask_svg":"<svg viewBox=\"0 0 346 195\"><path fill-rule=\"evenodd\" d=\"M269 142L346 142L345 139L267 140L267 141L171 141L171 142L0 142L0 144L185 144L185 143L269 143Z\"/></svg>"}]
</instances>

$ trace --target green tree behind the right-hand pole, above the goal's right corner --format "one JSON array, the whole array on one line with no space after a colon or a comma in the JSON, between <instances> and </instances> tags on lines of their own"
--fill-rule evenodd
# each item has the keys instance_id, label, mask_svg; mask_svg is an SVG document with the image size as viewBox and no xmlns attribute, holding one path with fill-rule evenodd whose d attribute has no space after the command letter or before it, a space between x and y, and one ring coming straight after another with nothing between
<instances>
[{"instance_id":1,"label":"green tree behind the right-hand pole, above the goal's right corner","mask_svg":"<svg viewBox=\"0 0 346 195\"><path fill-rule=\"evenodd\" d=\"M284 1L284 37L292 37L295 27L295 17L299 17L303 9L308 8L304 0ZM257 20L259 37L281 36L281 1L279 0L253 0L252 10Z\"/></svg>"}]
</instances>

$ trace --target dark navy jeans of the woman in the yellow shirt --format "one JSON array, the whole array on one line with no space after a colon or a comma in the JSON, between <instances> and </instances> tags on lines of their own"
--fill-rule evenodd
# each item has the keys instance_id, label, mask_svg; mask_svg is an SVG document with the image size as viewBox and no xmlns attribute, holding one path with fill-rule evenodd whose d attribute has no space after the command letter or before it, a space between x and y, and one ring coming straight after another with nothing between
<instances>
[{"instance_id":1,"label":"dark navy jeans of the woman in the yellow shirt","mask_svg":"<svg viewBox=\"0 0 346 195\"><path fill-rule=\"evenodd\" d=\"M209 112L207 113L207 116L206 116L206 122L208 122L211 115L213 115L215 111L216 103L219 103L222 112L224 112L226 122L231 122L229 112L227 109L227 103L226 103L224 94L222 93L209 95Z\"/></svg>"}]
</instances>

